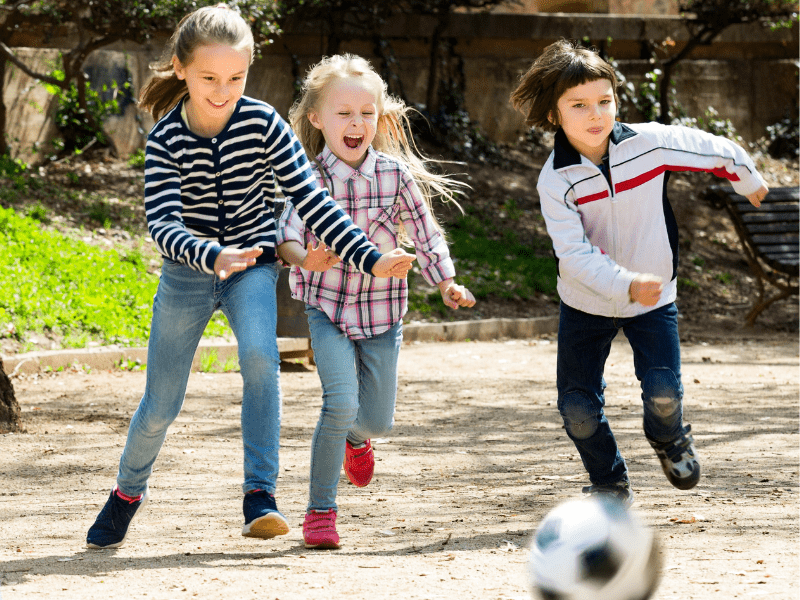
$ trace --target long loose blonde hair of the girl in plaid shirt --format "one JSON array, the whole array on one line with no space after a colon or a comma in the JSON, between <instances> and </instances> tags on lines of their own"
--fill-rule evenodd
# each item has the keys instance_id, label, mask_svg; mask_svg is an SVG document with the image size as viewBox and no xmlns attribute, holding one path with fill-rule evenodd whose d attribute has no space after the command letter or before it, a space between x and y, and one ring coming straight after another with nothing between
<instances>
[{"instance_id":1,"label":"long loose blonde hair of the girl in plaid shirt","mask_svg":"<svg viewBox=\"0 0 800 600\"><path fill-rule=\"evenodd\" d=\"M411 135L408 118L414 109L389 94L386 82L366 59L353 54L336 54L324 57L308 71L303 80L300 99L289 109L289 122L309 158L314 160L322 152L325 138L322 132L311 124L308 114L320 109L325 93L332 83L348 78L358 78L375 90L378 126L372 147L395 158L408 168L422 192L437 229L444 233L434 215L432 198L438 197L443 202L452 202L462 210L456 201L456 190L468 188L469 185L449 175L433 173L428 169L428 164L443 161L427 158L417 148ZM402 228L398 232L398 238L403 244L410 243Z\"/></svg>"}]
</instances>

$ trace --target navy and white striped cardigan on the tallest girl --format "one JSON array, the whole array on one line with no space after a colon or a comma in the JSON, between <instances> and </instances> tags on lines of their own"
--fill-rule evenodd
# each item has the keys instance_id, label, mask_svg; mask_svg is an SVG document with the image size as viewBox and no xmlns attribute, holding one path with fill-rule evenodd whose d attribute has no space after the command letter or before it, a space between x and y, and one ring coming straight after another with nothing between
<instances>
[{"instance_id":1,"label":"navy and white striped cardigan on the tallest girl","mask_svg":"<svg viewBox=\"0 0 800 600\"><path fill-rule=\"evenodd\" d=\"M280 190L319 239L372 272L380 253L317 185L297 137L274 108L243 96L225 129L204 138L184 124L182 105L155 124L145 152L147 226L165 258L212 274L223 247L260 247L257 262L275 262Z\"/></svg>"}]
</instances>

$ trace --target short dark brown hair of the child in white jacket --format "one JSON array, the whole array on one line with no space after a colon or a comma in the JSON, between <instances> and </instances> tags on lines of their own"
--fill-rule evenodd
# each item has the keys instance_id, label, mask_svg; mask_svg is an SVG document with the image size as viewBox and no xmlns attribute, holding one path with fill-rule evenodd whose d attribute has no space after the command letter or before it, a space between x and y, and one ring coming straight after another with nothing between
<instances>
[{"instance_id":1,"label":"short dark brown hair of the child in white jacket","mask_svg":"<svg viewBox=\"0 0 800 600\"><path fill-rule=\"evenodd\" d=\"M559 128L558 99L568 89L598 79L608 79L619 105L619 82L614 68L594 49L559 40L544 49L511 93L511 104L525 115L525 123L545 131ZM551 121L552 116L552 121Z\"/></svg>"}]
</instances>

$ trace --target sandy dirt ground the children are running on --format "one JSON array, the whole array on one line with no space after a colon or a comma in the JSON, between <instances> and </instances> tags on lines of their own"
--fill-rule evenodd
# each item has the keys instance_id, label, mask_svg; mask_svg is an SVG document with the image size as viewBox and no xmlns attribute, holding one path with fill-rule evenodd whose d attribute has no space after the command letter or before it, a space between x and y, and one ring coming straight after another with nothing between
<instances>
[{"instance_id":1,"label":"sandy dirt ground the children are running on","mask_svg":"<svg viewBox=\"0 0 800 600\"><path fill-rule=\"evenodd\" d=\"M413 343L396 425L366 488L339 486L338 551L302 546L320 405L285 363L278 505L287 536L240 535L241 377L195 373L118 550L84 547L116 474L141 372L17 378L26 431L0 436L0 597L524 599L537 522L588 483L555 408L556 342ZM683 346L703 478L673 489L641 433L631 354L614 343L608 416L664 552L654 600L798 598L796 333Z\"/></svg>"}]
</instances>

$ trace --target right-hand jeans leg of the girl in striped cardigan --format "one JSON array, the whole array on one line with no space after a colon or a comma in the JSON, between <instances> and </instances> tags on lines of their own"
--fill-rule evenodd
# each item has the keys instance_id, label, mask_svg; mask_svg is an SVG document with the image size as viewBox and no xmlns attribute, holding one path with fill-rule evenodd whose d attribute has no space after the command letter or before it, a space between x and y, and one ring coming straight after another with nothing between
<instances>
[{"instance_id":1,"label":"right-hand jeans leg of the girl in striped cardigan","mask_svg":"<svg viewBox=\"0 0 800 600\"><path fill-rule=\"evenodd\" d=\"M280 447L277 265L258 265L224 282L220 304L239 345L242 373L244 493L275 494Z\"/></svg>"}]
</instances>

